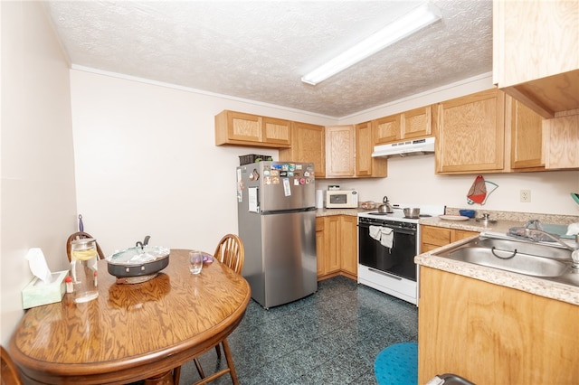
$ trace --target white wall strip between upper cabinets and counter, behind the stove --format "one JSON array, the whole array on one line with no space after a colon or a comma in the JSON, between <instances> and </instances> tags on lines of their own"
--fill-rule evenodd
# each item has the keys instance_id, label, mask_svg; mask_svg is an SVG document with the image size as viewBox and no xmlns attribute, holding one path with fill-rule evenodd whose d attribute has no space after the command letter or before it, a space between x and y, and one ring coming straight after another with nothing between
<instances>
[{"instance_id":1,"label":"white wall strip between upper cabinets and counter, behind the stove","mask_svg":"<svg viewBox=\"0 0 579 385\"><path fill-rule=\"evenodd\" d=\"M476 175L435 175L434 155L388 159L388 177L384 179L328 180L318 183L339 184L342 189L357 189L362 201L444 204L473 210L521 211L579 215L569 192L579 192L579 172L484 174L486 181L497 183L484 205L469 205L466 195ZM531 202L520 202L521 189L531 190Z\"/></svg>"}]
</instances>

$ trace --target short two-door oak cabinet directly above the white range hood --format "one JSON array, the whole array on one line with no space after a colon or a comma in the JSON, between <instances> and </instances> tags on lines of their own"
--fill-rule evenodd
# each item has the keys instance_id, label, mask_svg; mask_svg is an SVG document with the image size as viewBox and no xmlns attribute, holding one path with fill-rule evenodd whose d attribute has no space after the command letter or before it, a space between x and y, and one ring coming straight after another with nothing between
<instances>
[{"instance_id":1,"label":"short two-door oak cabinet directly above the white range hood","mask_svg":"<svg viewBox=\"0 0 579 385\"><path fill-rule=\"evenodd\" d=\"M414 108L372 121L375 146L432 136L432 107Z\"/></svg>"}]
</instances>

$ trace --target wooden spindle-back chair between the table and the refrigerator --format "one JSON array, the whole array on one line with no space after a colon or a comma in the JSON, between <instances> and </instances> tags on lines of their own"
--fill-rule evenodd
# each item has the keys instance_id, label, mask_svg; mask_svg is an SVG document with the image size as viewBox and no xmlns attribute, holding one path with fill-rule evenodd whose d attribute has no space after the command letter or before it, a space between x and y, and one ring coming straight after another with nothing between
<instances>
[{"instance_id":1,"label":"wooden spindle-back chair between the table and the refrigerator","mask_svg":"<svg viewBox=\"0 0 579 385\"><path fill-rule=\"evenodd\" d=\"M245 260L245 250L243 249L243 242L239 236L235 234L225 235L217 244L217 248L214 252L214 258L219 260L223 265L231 268L236 274L242 274L243 261ZM217 357L221 358L221 348L223 346L223 352L225 353L225 361L227 362L227 368L217 371L216 373L205 377L199 358L194 359L195 368L201 376L201 380L195 383L195 385L205 384L207 382L213 381L227 373L232 376L233 384L237 385L237 373L235 372L235 367L233 365L233 357L231 350L229 349L229 343L227 339L223 339L220 343L215 345L215 352L217 352ZM175 384L179 383L179 377L181 374L181 367L178 367L174 371L173 380Z\"/></svg>"}]
</instances>

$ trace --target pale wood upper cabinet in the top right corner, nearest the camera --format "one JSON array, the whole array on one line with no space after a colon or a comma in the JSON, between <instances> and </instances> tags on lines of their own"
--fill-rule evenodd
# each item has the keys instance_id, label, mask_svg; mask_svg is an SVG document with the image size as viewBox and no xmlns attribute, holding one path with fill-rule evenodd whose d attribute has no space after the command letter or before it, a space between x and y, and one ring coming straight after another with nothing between
<instances>
[{"instance_id":1,"label":"pale wood upper cabinet in the top right corner, nearest the camera","mask_svg":"<svg viewBox=\"0 0 579 385\"><path fill-rule=\"evenodd\" d=\"M542 117L579 108L579 2L493 1L493 80Z\"/></svg>"}]
</instances>

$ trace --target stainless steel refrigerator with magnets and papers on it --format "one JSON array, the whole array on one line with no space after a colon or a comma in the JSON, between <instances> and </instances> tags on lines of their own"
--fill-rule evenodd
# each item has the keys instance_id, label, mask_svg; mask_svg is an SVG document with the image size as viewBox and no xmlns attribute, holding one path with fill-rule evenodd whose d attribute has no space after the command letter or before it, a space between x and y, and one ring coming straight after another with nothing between
<instances>
[{"instance_id":1,"label":"stainless steel refrigerator with magnets and papers on it","mask_svg":"<svg viewBox=\"0 0 579 385\"><path fill-rule=\"evenodd\" d=\"M237 167L242 276L265 308L318 290L314 164L258 162Z\"/></svg>"}]
</instances>

